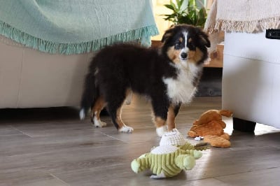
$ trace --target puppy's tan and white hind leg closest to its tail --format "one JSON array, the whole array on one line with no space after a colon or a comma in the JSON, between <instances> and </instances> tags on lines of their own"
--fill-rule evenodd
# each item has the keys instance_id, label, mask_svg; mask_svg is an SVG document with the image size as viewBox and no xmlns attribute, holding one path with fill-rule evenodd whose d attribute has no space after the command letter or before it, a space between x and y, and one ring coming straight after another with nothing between
<instances>
[{"instance_id":1,"label":"puppy's tan and white hind leg closest to its tail","mask_svg":"<svg viewBox=\"0 0 280 186\"><path fill-rule=\"evenodd\" d=\"M106 127L106 122L102 122L99 116L104 106L106 106L106 103L102 96L99 96L99 98L97 98L97 100L92 105L91 120L94 124L94 127Z\"/></svg>"}]
</instances>

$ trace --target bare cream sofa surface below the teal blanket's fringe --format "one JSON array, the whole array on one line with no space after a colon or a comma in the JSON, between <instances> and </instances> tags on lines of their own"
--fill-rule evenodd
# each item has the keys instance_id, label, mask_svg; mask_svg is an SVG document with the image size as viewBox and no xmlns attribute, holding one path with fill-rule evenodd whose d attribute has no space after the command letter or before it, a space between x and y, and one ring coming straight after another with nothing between
<instances>
[{"instance_id":1,"label":"bare cream sofa surface below the teal blanket's fringe","mask_svg":"<svg viewBox=\"0 0 280 186\"><path fill-rule=\"evenodd\" d=\"M0 108L79 106L92 55L50 55L0 35Z\"/></svg>"}]
</instances>

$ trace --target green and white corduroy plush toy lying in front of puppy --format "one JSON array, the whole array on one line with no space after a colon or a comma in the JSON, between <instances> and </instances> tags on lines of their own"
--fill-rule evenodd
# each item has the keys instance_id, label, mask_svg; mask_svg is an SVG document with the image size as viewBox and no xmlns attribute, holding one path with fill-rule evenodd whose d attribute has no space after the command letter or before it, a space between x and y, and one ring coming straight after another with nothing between
<instances>
[{"instance_id":1,"label":"green and white corduroy plush toy lying in front of puppy","mask_svg":"<svg viewBox=\"0 0 280 186\"><path fill-rule=\"evenodd\" d=\"M160 146L134 159L131 163L132 171L139 173L151 169L151 178L170 178L182 170L193 169L195 159L202 157L200 150L206 150L208 146L205 143L191 145L174 129L162 135Z\"/></svg>"}]
</instances>

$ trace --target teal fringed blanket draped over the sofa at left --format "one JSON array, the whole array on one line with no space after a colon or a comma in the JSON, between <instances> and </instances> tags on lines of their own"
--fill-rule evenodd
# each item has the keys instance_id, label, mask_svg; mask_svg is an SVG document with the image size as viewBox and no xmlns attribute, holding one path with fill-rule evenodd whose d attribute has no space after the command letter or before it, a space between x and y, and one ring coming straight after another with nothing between
<instances>
[{"instance_id":1,"label":"teal fringed blanket draped over the sofa at left","mask_svg":"<svg viewBox=\"0 0 280 186\"><path fill-rule=\"evenodd\" d=\"M0 34L52 54L115 42L151 45L158 34L151 0L0 0Z\"/></svg>"}]
</instances>

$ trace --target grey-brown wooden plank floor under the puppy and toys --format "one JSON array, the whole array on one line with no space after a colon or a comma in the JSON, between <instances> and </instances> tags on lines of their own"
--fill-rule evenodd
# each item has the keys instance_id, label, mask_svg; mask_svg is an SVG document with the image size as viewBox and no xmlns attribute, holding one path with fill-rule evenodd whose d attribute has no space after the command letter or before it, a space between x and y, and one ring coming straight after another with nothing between
<instances>
[{"instance_id":1,"label":"grey-brown wooden plank floor under the puppy and toys","mask_svg":"<svg viewBox=\"0 0 280 186\"><path fill-rule=\"evenodd\" d=\"M197 97L181 108L177 129L186 136L205 110L221 108L221 97ZM123 108L133 134L118 134L78 119L76 108L0 110L0 185L279 185L280 130L257 124L255 134L232 131L231 148L203 152L194 169L153 180L134 173L132 159L159 144L150 105L134 99ZM190 143L197 143L188 138Z\"/></svg>"}]
</instances>

